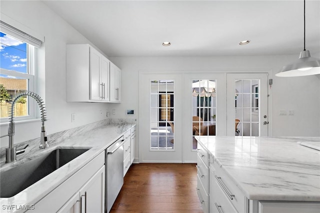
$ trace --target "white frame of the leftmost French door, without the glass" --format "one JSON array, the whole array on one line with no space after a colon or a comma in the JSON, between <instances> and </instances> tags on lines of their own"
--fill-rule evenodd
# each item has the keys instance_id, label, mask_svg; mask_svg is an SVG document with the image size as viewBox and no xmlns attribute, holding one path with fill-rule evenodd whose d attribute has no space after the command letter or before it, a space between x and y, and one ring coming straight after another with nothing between
<instances>
[{"instance_id":1,"label":"white frame of the leftmost French door, without the glass","mask_svg":"<svg viewBox=\"0 0 320 213\"><path fill-rule=\"evenodd\" d=\"M174 150L150 149L150 81L174 80ZM139 73L139 161L182 162L182 73Z\"/></svg>"}]
</instances>

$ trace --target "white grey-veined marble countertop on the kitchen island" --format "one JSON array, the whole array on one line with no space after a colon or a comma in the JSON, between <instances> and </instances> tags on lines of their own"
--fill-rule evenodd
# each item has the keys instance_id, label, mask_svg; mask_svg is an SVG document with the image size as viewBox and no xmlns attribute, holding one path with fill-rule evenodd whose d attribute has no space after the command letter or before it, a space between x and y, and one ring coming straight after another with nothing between
<instances>
[{"instance_id":1,"label":"white grey-veined marble countertop on the kitchen island","mask_svg":"<svg viewBox=\"0 0 320 213\"><path fill-rule=\"evenodd\" d=\"M248 199L320 201L320 151L300 144L320 137L196 139Z\"/></svg>"}]
</instances>

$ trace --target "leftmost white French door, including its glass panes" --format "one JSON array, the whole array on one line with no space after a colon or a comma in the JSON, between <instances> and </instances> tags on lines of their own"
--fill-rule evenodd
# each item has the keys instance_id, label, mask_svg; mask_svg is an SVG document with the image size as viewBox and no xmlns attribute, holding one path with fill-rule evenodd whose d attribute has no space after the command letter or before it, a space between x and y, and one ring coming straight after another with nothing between
<instances>
[{"instance_id":1,"label":"leftmost white French door, including its glass panes","mask_svg":"<svg viewBox=\"0 0 320 213\"><path fill-rule=\"evenodd\" d=\"M182 77L143 73L139 87L140 162L182 162Z\"/></svg>"}]
</instances>

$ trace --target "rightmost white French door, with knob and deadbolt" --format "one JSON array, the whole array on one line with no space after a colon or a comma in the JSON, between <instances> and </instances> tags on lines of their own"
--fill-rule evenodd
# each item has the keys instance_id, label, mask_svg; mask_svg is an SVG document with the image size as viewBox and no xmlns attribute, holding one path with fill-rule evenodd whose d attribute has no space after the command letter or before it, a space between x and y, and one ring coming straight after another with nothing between
<instances>
[{"instance_id":1,"label":"rightmost white French door, with knob and deadbolt","mask_svg":"<svg viewBox=\"0 0 320 213\"><path fill-rule=\"evenodd\" d=\"M267 136L267 74L228 73L226 79L226 134Z\"/></svg>"}]
</instances>

